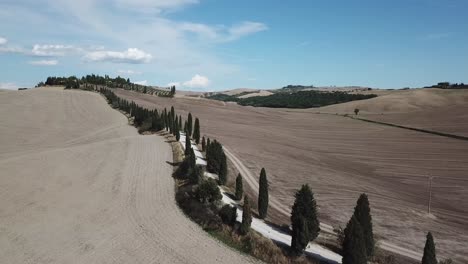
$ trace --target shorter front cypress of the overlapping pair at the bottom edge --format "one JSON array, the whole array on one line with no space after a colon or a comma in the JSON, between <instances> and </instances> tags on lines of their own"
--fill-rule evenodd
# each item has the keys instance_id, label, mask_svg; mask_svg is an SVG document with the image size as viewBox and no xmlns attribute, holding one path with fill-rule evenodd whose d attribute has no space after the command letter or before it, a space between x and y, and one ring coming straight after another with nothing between
<instances>
[{"instance_id":1,"label":"shorter front cypress of the overlapping pair at the bottom edge","mask_svg":"<svg viewBox=\"0 0 468 264\"><path fill-rule=\"evenodd\" d=\"M353 215L344 230L343 264L366 264L367 253L361 225Z\"/></svg>"}]
</instances>

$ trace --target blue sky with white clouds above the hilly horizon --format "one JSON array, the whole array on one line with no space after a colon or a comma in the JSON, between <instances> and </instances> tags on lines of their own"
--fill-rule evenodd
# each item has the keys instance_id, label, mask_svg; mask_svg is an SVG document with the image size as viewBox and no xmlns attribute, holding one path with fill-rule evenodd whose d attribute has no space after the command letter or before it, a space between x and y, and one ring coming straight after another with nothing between
<instances>
[{"instance_id":1,"label":"blue sky with white clouds above the hilly horizon","mask_svg":"<svg viewBox=\"0 0 468 264\"><path fill-rule=\"evenodd\" d=\"M466 0L0 0L0 88L122 76L215 91L468 82Z\"/></svg>"}]
</instances>

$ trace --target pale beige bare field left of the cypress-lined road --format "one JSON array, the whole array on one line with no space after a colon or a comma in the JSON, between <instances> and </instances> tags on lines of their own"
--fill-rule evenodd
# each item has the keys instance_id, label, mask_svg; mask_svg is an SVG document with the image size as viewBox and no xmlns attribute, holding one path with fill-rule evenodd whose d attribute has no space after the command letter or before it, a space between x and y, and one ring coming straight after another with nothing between
<instances>
[{"instance_id":1,"label":"pale beige bare field left of the cypress-lined road","mask_svg":"<svg viewBox=\"0 0 468 264\"><path fill-rule=\"evenodd\" d=\"M96 93L0 92L0 263L245 263L178 209L172 151Z\"/></svg>"}]
</instances>

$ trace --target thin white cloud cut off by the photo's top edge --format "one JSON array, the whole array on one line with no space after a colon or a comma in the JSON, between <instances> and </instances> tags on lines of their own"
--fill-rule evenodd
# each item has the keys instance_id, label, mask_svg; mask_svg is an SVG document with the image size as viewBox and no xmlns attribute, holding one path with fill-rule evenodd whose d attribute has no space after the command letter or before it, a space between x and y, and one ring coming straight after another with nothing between
<instances>
[{"instance_id":1,"label":"thin white cloud cut off by the photo's top edge","mask_svg":"<svg viewBox=\"0 0 468 264\"><path fill-rule=\"evenodd\" d=\"M118 7L144 13L161 13L197 4L198 0L117 0Z\"/></svg>"}]
</instances>

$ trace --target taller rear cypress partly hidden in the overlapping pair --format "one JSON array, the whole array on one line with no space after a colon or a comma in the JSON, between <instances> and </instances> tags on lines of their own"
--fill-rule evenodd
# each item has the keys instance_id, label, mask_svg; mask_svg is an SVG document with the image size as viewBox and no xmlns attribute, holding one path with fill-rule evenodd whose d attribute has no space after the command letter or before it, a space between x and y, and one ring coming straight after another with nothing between
<instances>
[{"instance_id":1,"label":"taller rear cypress partly hidden in the overlapping pair","mask_svg":"<svg viewBox=\"0 0 468 264\"><path fill-rule=\"evenodd\" d=\"M374 233L372 230L372 216L370 213L369 199L365 193L359 196L356 207L354 207L354 216L362 228L364 242L366 244L367 258L374 255Z\"/></svg>"}]
</instances>

